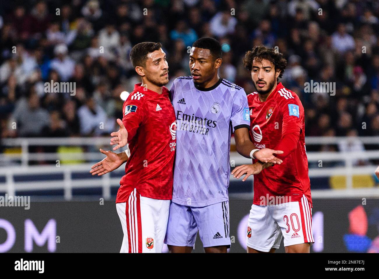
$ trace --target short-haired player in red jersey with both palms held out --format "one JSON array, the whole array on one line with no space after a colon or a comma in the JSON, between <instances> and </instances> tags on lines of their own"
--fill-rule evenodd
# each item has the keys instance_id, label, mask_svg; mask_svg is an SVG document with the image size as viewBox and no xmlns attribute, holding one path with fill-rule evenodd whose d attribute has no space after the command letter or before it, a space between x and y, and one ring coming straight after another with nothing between
<instances>
[{"instance_id":1,"label":"short-haired player in red jersey with both palms held out","mask_svg":"<svg viewBox=\"0 0 379 279\"><path fill-rule=\"evenodd\" d=\"M92 166L92 175L103 175L124 162L116 197L124 239L120 252L161 252L172 199L176 146L175 112L169 99L168 63L160 43L136 44L130 53L142 79L122 109L118 132L113 132L113 150L128 144L130 156L100 150L106 155Z\"/></svg>"}]
</instances>

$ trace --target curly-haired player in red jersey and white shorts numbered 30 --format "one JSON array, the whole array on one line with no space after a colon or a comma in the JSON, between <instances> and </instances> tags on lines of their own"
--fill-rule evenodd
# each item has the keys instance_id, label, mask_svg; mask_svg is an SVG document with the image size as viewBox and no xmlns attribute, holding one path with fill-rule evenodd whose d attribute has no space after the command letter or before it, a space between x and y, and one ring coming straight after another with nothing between
<instances>
[{"instance_id":1,"label":"curly-haired player in red jersey and white shorts numbered 30","mask_svg":"<svg viewBox=\"0 0 379 279\"><path fill-rule=\"evenodd\" d=\"M258 149L283 150L280 165L236 167L232 174L244 180L254 174L254 200L247 226L247 252L274 252L284 236L286 252L309 252L312 235L312 197L304 140L304 108L278 78L287 61L275 49L256 46L246 52L244 66L251 71L256 92L247 96L250 137Z\"/></svg>"}]
</instances>

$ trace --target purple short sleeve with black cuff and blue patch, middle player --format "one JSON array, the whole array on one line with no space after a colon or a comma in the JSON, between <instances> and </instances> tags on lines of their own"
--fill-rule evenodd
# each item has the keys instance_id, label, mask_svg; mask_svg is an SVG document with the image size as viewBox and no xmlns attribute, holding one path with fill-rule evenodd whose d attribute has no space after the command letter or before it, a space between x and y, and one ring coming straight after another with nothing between
<instances>
[{"instance_id":1,"label":"purple short sleeve with black cuff and blue patch, middle player","mask_svg":"<svg viewBox=\"0 0 379 279\"><path fill-rule=\"evenodd\" d=\"M249 105L243 89L238 90L234 97L230 121L232 121L233 132L240 128L250 129Z\"/></svg>"}]
</instances>

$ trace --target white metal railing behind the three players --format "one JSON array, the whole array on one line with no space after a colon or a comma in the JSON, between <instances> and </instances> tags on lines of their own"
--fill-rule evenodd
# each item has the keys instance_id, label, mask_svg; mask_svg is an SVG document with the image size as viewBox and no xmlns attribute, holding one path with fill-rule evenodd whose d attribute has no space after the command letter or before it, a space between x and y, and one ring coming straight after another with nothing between
<instances>
[{"instance_id":1,"label":"white metal railing behind the three players","mask_svg":"<svg viewBox=\"0 0 379 279\"><path fill-rule=\"evenodd\" d=\"M110 174L103 175L101 178L83 178L73 179L72 174L75 172L89 172L92 163L80 164L52 164L44 166L29 166L30 161L55 161L55 160L84 160L100 161L104 155L100 152L83 152L83 153L28 153L29 146L100 146L111 150L109 145L110 137L96 138L18 138L3 139L2 145L6 147L22 147L19 154L1 154L0 162L9 162L8 166L0 167L0 177L5 177L5 183L0 183L0 192L7 192L8 195L14 195L16 191L23 190L43 190L43 189L64 189L64 198L72 199L72 189L75 188L92 188L101 187L103 197L110 198L110 189L112 186L118 186L122 176L120 167L120 176L111 178ZM360 140L363 143L379 144L379 137L307 137L307 145L320 144L338 144L341 140ZM233 143L233 140L232 140ZM121 151L121 150L120 150ZM63 157L62 157L63 156ZM312 177L330 177L332 175L343 175L346 177L346 189L343 190L318 190L312 191L313 197L379 197L379 188L352 188L353 175L373 175L376 166L354 166L353 161L357 159L379 159L379 150L362 151L362 152L307 152L308 161L324 162L337 161L343 162L344 167L317 167L309 170L309 176ZM21 161L21 166L10 166L15 159ZM251 164L251 159L244 158L236 152L231 152L230 161L233 166L241 164ZM15 182L15 175L34 175L53 173L63 174L63 180L49 180L38 182ZM3 179L4 180L4 179ZM230 177L231 181L236 178ZM247 181L252 183L253 177ZM241 179L240 179L241 181Z\"/></svg>"}]
</instances>

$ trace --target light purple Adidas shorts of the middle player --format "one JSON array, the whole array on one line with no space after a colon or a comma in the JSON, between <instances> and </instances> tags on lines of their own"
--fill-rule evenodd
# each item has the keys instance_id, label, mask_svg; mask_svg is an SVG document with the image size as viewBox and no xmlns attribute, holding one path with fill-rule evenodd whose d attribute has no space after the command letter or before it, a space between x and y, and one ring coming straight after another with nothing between
<instances>
[{"instance_id":1,"label":"light purple Adidas shorts of the middle player","mask_svg":"<svg viewBox=\"0 0 379 279\"><path fill-rule=\"evenodd\" d=\"M198 231L203 247L226 245L230 248L229 202L204 207L171 202L164 243L193 247Z\"/></svg>"}]
</instances>

